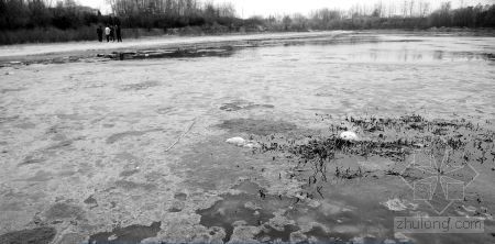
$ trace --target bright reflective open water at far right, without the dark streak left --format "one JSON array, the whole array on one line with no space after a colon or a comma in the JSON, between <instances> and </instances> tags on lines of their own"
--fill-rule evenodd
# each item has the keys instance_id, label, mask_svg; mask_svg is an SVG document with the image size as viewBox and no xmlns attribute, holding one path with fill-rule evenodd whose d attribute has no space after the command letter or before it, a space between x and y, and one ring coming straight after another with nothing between
<instances>
[{"instance_id":1,"label":"bright reflective open water at far right, without the dark streak left","mask_svg":"<svg viewBox=\"0 0 495 244\"><path fill-rule=\"evenodd\" d=\"M465 41L459 42L457 41L458 38ZM304 52L324 54L327 58L338 62L493 62L495 60L495 46L487 44L490 42L488 38L338 34L306 41L286 42L284 46L288 49L280 52L294 52L301 55L298 52L302 48ZM295 48L295 46L300 48Z\"/></svg>"}]
</instances>

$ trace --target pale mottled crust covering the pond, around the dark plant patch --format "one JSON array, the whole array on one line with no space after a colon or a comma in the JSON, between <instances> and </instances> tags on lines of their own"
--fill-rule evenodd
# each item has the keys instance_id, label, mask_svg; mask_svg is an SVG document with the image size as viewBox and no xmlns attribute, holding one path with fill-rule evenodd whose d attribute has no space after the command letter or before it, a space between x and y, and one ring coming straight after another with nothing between
<instances>
[{"instance_id":1,"label":"pale mottled crust covering the pond, around the dark plant patch","mask_svg":"<svg viewBox=\"0 0 495 244\"><path fill-rule=\"evenodd\" d=\"M290 176L292 163L224 141L322 130L321 115L419 113L493 130L495 37L304 36L221 56L0 68L0 236L33 230L40 243L322 241L326 232L337 241L426 243L425 235L391 230L397 213L383 202L410 192L386 168L376 179L337 182L323 188L324 199L295 206L301 184ZM153 45L161 44L146 48ZM488 163L473 166L480 180L455 206L486 210L487 231L457 236L464 243L495 242L493 141L487 145ZM265 193L266 201L257 198ZM261 210L216 215L246 204ZM419 208L414 211L431 214ZM452 236L436 239L452 243Z\"/></svg>"}]
</instances>

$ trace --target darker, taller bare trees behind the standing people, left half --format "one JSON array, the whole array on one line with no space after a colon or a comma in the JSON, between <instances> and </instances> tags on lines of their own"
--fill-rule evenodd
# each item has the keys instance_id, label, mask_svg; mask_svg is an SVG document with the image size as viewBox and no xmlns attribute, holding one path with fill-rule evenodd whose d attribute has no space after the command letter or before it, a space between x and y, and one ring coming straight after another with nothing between
<instances>
[{"instance_id":1,"label":"darker, taller bare trees behind the standing people, left half","mask_svg":"<svg viewBox=\"0 0 495 244\"><path fill-rule=\"evenodd\" d=\"M175 29L207 24L232 25L232 4L202 3L198 0L107 0L112 14L78 5L75 0L0 0L0 30L56 27L78 29L97 24L123 27Z\"/></svg>"}]
</instances>

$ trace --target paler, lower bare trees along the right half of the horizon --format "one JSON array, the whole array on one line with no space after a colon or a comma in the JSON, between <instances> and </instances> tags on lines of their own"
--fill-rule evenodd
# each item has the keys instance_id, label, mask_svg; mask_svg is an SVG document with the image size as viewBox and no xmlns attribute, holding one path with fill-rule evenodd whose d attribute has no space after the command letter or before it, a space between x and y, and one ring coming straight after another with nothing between
<instances>
[{"instance_id":1,"label":"paler, lower bare trees along the right half of the horizon","mask_svg":"<svg viewBox=\"0 0 495 244\"><path fill-rule=\"evenodd\" d=\"M354 5L348 11L320 9L308 15L254 16L271 31L495 27L495 4L452 9L450 2L431 10L426 1L403 4Z\"/></svg>"}]
</instances>

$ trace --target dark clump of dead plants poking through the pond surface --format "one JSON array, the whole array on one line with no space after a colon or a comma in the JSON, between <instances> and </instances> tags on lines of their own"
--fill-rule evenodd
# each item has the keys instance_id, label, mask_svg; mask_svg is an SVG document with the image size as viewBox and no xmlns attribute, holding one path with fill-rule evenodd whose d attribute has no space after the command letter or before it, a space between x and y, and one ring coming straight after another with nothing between
<instances>
[{"instance_id":1,"label":"dark clump of dead plants poking through the pond surface","mask_svg":"<svg viewBox=\"0 0 495 244\"><path fill-rule=\"evenodd\" d=\"M324 181L328 168L331 168L334 177L342 179L361 178L371 173L361 167L339 166L337 162L342 158L360 160L377 156L400 163L417 152L441 162L446 151L449 151L447 164L491 162L491 168L495 170L495 133L486 127L466 120L428 120L419 114L398 118L348 117L341 123L329 123L328 131L322 131L320 135L308 134L295 138L263 133L265 136L260 140L261 146L255 151L278 153L286 159L296 160L295 171L312 170L314 177L320 175ZM344 131L355 131L360 140L340 137ZM393 168L384 173L400 175ZM316 178L308 180L311 181L316 181Z\"/></svg>"}]
</instances>

